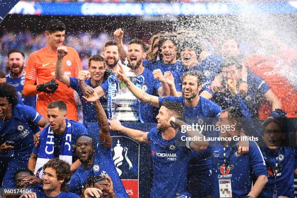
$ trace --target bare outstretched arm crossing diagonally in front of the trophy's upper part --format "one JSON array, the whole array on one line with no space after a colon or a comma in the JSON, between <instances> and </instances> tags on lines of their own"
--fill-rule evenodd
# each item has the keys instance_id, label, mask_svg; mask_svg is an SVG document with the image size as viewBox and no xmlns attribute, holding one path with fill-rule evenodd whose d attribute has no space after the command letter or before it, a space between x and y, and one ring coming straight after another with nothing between
<instances>
[{"instance_id":1,"label":"bare outstretched arm crossing diagonally in front of the trophy's upper part","mask_svg":"<svg viewBox=\"0 0 297 198\"><path fill-rule=\"evenodd\" d=\"M159 98L156 96L152 96L147 94L144 90L138 88L136 85L134 85L126 76L122 66L120 66L119 72L116 73L116 76L126 84L128 89L131 91L131 93L140 101L148 103L152 106L159 107Z\"/></svg>"}]
</instances>

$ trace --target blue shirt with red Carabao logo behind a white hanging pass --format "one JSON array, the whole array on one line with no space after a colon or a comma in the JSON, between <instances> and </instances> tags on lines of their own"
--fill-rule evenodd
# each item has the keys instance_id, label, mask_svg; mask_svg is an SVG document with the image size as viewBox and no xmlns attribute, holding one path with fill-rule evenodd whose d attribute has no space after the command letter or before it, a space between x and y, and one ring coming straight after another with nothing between
<instances>
[{"instance_id":1,"label":"blue shirt with red Carabao logo behind a white hanging pass","mask_svg":"<svg viewBox=\"0 0 297 198\"><path fill-rule=\"evenodd\" d=\"M245 197L252 187L253 176L267 175L266 165L258 145L249 141L247 154L237 153L236 142L231 141L226 147L226 162L228 167L224 172L224 147L223 142L210 141L206 148L212 159L212 197L219 198L219 180L231 180L232 197Z\"/></svg>"}]
</instances>

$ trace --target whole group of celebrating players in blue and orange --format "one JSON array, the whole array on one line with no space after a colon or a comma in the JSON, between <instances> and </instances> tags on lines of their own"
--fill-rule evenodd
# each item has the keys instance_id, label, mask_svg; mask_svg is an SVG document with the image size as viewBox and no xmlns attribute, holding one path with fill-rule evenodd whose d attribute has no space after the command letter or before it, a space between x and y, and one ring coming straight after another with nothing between
<instances>
[{"instance_id":1,"label":"whole group of celebrating players in blue and orange","mask_svg":"<svg viewBox=\"0 0 297 198\"><path fill-rule=\"evenodd\" d=\"M91 56L82 70L77 51L63 46L65 31L62 21L50 20L46 47L27 62L22 51L8 52L10 73L0 79L0 153L13 156L2 188L33 189L22 198L128 198L111 155L115 130L150 144L151 198L295 197L295 147L285 137L287 119L297 112L296 85L286 77L296 49L270 35L259 38L265 54L243 58L236 40L227 38L218 56L188 32L154 35L150 46L135 38L125 49L117 29L103 56ZM132 82L127 69L141 81ZM156 122L155 128L143 132L112 119L115 78L139 100L141 121ZM235 127L197 132L183 118ZM99 124L97 145L88 122ZM253 135L263 146L244 138Z\"/></svg>"}]
</instances>

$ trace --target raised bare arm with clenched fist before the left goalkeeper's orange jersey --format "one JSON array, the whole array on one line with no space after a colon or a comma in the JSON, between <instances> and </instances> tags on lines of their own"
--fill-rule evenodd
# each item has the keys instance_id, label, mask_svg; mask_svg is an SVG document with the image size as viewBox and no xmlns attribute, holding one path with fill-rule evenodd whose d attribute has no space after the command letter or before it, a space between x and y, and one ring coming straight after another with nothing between
<instances>
[{"instance_id":1,"label":"raised bare arm with clenched fist before the left goalkeeper's orange jersey","mask_svg":"<svg viewBox=\"0 0 297 198\"><path fill-rule=\"evenodd\" d=\"M70 78L69 76L64 74L64 68L62 66L62 61L64 56L66 56L68 53L68 50L66 46L61 46L57 48L57 63L56 63L56 78L66 84L67 86L70 86Z\"/></svg>"}]
</instances>

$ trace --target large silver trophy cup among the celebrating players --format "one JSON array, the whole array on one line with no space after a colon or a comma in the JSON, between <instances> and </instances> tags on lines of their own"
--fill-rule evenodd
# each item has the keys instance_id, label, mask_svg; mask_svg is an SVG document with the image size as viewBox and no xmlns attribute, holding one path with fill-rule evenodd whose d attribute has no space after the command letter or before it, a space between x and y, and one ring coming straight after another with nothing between
<instances>
[{"instance_id":1,"label":"large silver trophy cup among the celebrating players","mask_svg":"<svg viewBox=\"0 0 297 198\"><path fill-rule=\"evenodd\" d=\"M126 61L125 61L126 63ZM136 75L130 72L129 67L126 67L126 76L131 82L136 81ZM114 119L121 122L139 122L139 117L136 109L133 107L137 103L136 97L130 92L124 82L120 82L118 92L114 98L115 116Z\"/></svg>"}]
</instances>

